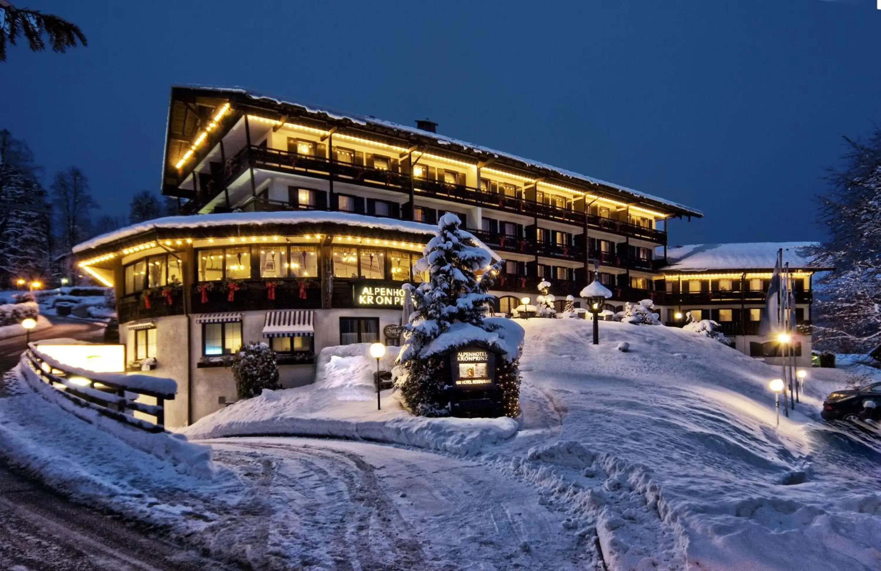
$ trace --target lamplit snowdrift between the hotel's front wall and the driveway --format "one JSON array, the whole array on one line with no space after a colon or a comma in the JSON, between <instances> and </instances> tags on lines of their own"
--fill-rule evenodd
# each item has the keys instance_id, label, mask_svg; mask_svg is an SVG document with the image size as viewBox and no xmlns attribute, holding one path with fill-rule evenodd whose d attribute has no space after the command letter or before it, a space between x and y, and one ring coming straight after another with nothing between
<instances>
[{"instance_id":1,"label":"lamplit snowdrift between the hotel's front wall and the driveway","mask_svg":"<svg viewBox=\"0 0 881 571\"><path fill-rule=\"evenodd\" d=\"M376 410L376 360L369 344L325 347L318 357L315 384L264 390L181 429L190 439L263 434L332 436L380 441L474 455L517 432L515 419L428 419L406 411L391 390L381 393ZM396 359L389 347L381 368Z\"/></svg>"}]
</instances>

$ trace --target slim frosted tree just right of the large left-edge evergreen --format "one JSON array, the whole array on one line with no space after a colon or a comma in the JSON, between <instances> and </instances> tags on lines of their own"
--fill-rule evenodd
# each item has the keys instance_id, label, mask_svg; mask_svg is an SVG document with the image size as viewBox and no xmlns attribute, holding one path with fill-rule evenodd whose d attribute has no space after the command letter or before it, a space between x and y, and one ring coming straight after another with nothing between
<instances>
[{"instance_id":1,"label":"slim frosted tree just right of the large left-edge evergreen","mask_svg":"<svg viewBox=\"0 0 881 571\"><path fill-rule=\"evenodd\" d=\"M89 193L88 179L77 167L56 173L52 194L60 226L57 254L61 255L91 235L90 211L98 204Z\"/></svg>"}]
</instances>

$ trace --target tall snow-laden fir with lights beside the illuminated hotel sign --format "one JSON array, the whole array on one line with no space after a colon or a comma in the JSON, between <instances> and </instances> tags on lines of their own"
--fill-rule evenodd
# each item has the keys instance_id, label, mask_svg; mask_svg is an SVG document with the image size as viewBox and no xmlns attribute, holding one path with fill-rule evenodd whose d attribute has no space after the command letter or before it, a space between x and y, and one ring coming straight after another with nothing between
<instances>
[{"instance_id":1,"label":"tall snow-laden fir with lights beside the illuminated hotel sign","mask_svg":"<svg viewBox=\"0 0 881 571\"><path fill-rule=\"evenodd\" d=\"M458 323L482 331L495 329L485 322L485 308L494 300L488 290L494 282L493 276L501 271L503 261L492 263L492 254L460 228L461 224L455 214L441 217L437 235L428 242L424 257L417 264L419 271L428 271L429 280L418 287L404 285L412 295L415 311L410 323L403 326L404 342L396 361L395 385L401 391L404 404L418 415L449 413L444 395L444 372L448 366L445 359L428 354L428 346ZM479 271L483 271L480 278ZM456 338L450 347L468 345L470 341L467 337ZM499 367L499 373L506 379L503 391L507 391L509 401L514 399L516 403L519 398L516 360L502 362ZM515 404L509 402L508 407L507 410L512 410Z\"/></svg>"}]
</instances>

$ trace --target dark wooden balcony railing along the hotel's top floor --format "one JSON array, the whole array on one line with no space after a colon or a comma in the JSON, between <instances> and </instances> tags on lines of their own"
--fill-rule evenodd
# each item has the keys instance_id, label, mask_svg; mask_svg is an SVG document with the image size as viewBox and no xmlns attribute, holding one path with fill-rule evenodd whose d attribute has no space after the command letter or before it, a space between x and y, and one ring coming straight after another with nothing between
<instances>
[{"instance_id":1,"label":"dark wooden balcony railing along the hotel's top floor","mask_svg":"<svg viewBox=\"0 0 881 571\"><path fill-rule=\"evenodd\" d=\"M232 159L226 161L224 167L225 185L236 180L248 167L303 174L322 179L332 178L334 181L353 182L366 187L406 193L410 192L411 185L410 174L353 165L323 157L301 155L296 152L281 151L255 145L244 147ZM593 214L585 214L584 212L574 211L554 204L544 204L522 197L511 197L498 192L475 189L462 184L451 184L422 178L413 178L412 185L414 194L422 197L439 198L459 204L481 206L523 216L556 220L577 226L583 226L585 217L587 217L589 227L594 229L611 234L640 238L659 244L664 244L667 241L667 234L661 230L630 224L622 220L601 218ZM200 193L195 201L188 204L184 209L184 213L199 211L205 204L208 204L211 198L213 197L207 196L207 193Z\"/></svg>"}]
</instances>

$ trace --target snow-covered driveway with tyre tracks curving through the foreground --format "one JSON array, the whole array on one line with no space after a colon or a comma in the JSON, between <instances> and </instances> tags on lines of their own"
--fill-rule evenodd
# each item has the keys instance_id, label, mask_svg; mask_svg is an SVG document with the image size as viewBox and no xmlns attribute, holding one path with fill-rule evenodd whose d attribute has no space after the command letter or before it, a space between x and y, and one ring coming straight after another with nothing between
<instances>
[{"instance_id":1,"label":"snow-covered driveway with tyre tracks curving through the foreground","mask_svg":"<svg viewBox=\"0 0 881 571\"><path fill-rule=\"evenodd\" d=\"M366 442L210 442L254 486L204 533L269 568L593 568L534 487L486 464Z\"/></svg>"}]
</instances>

